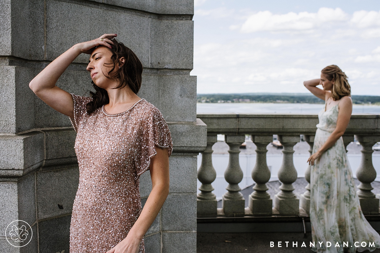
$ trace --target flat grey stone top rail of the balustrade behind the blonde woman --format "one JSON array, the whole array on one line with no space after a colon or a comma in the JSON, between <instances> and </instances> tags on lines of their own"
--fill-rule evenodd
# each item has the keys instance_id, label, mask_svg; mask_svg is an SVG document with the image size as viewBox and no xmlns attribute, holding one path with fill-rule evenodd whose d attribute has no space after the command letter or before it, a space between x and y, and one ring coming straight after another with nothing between
<instances>
[{"instance_id":1,"label":"flat grey stone top rail of the balustrade behind the blonde woman","mask_svg":"<svg viewBox=\"0 0 380 253\"><path fill-rule=\"evenodd\" d=\"M317 114L198 113L208 134L315 134ZM380 135L380 115L353 114L345 135Z\"/></svg>"}]
</instances>

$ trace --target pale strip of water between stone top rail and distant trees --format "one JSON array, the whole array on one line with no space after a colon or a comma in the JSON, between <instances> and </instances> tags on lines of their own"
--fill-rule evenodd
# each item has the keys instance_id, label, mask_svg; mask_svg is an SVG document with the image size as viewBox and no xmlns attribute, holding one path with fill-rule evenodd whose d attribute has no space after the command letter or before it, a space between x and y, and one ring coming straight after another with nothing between
<instances>
[{"instance_id":1,"label":"pale strip of water between stone top rail and distant trees","mask_svg":"<svg viewBox=\"0 0 380 253\"><path fill-rule=\"evenodd\" d=\"M292 113L318 114L324 104L280 103L197 103L197 113ZM380 115L379 105L353 105L352 113Z\"/></svg>"}]
</instances>

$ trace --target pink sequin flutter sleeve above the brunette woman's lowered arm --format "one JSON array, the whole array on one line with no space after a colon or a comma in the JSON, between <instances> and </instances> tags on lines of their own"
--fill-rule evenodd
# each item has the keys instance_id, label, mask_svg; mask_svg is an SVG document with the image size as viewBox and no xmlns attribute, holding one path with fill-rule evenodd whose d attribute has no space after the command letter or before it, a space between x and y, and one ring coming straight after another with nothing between
<instances>
[{"instance_id":1,"label":"pink sequin flutter sleeve above the brunette woman's lowered arm","mask_svg":"<svg viewBox=\"0 0 380 253\"><path fill-rule=\"evenodd\" d=\"M170 130L161 112L153 107L144 116L142 130L141 153L136 161L136 172L140 176L149 170L150 160L157 152L155 146L168 148L168 155L173 151Z\"/></svg>"}]
</instances>

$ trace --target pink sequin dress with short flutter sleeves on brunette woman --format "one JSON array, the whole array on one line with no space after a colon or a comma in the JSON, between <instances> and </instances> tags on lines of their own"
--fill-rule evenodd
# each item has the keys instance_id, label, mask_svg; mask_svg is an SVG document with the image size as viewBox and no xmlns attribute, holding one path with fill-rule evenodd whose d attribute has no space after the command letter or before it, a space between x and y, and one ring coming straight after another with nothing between
<instances>
[{"instance_id":1,"label":"pink sequin dress with short flutter sleeves on brunette woman","mask_svg":"<svg viewBox=\"0 0 380 253\"><path fill-rule=\"evenodd\" d=\"M168 148L170 156L173 143L160 111L145 99L123 113L109 115L101 107L88 115L92 98L71 96L79 186L70 253L104 253L127 237L141 213L139 176L149 170L155 146ZM139 253L144 252L142 240Z\"/></svg>"}]
</instances>

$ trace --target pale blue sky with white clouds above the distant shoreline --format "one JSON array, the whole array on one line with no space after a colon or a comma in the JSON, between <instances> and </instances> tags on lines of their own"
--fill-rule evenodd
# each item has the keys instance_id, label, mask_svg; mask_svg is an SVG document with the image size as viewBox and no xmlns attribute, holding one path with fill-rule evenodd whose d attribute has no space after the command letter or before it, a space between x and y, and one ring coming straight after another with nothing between
<instances>
[{"instance_id":1,"label":"pale blue sky with white clouds above the distant shoreline","mask_svg":"<svg viewBox=\"0 0 380 253\"><path fill-rule=\"evenodd\" d=\"M380 96L380 1L195 0L197 93L308 93L336 64Z\"/></svg>"}]
</instances>

